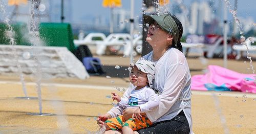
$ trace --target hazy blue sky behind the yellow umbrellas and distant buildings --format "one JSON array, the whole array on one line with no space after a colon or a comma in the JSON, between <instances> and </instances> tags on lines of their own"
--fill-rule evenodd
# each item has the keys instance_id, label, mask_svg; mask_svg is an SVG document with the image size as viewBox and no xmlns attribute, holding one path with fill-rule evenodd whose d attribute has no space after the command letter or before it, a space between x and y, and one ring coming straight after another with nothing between
<instances>
[{"instance_id":1,"label":"hazy blue sky behind the yellow umbrellas and distant buildings","mask_svg":"<svg viewBox=\"0 0 256 134\"><path fill-rule=\"evenodd\" d=\"M55 3L55 7L60 7L60 0L41 0L41 2L48 1ZM72 23L84 23L83 21L87 20L88 18L94 18L95 16L103 16L106 19L110 18L110 8L104 8L102 7L102 1L103 0L64 0L64 2L70 2L71 3L71 10L72 13L70 14L69 20L72 21ZM134 16L141 16L142 13L142 1L143 0L134 0L135 1L135 11ZM194 1L202 2L203 0L169 0L170 6L172 6L173 3L179 1L183 3L187 8L189 8L190 4ZM206 1L206 0L204 0ZM218 4L222 2L222 5L224 3L224 0L207 0L207 2L210 1L215 4L215 7L218 7ZM234 0L227 0L230 2L230 4L234 7ZM5 0L4 2L7 2ZM238 1L238 18L248 18L252 17L252 20L254 23L256 23L256 0L239 0ZM49 7L46 7L46 9ZM130 0L122 0L122 9L130 10L131 8L131 1ZM14 6L8 6L7 11L11 13L14 9ZM28 7L20 6L19 10L26 9L28 10ZM60 21L60 10L55 11L55 18L58 18ZM65 11L70 12L70 11ZM1 15L0 15L1 16ZM68 16L66 15L66 18ZM231 13L228 12L228 19L232 19ZM26 20L26 19L25 19ZM68 19L66 19L68 20ZM92 20L91 20L92 21ZM69 22L68 22L69 23Z\"/></svg>"}]
</instances>

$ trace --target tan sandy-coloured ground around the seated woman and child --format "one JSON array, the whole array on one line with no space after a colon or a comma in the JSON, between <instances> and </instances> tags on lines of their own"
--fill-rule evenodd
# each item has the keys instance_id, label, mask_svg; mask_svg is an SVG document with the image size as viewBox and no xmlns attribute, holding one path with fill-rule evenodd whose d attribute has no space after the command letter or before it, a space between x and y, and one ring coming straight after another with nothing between
<instances>
[{"instance_id":1,"label":"tan sandy-coloured ground around the seated woman and child","mask_svg":"<svg viewBox=\"0 0 256 134\"><path fill-rule=\"evenodd\" d=\"M122 55L99 58L102 64L112 66L127 66L130 61ZM188 58L188 63L191 75L203 74L209 64L223 66L222 59ZM228 69L252 73L248 60L228 60ZM37 97L35 78L26 76L25 80L28 96ZM111 92L122 95L128 80L102 76L86 80L43 79L41 111L53 115L38 116L31 115L40 111L37 99L17 98L24 97L19 78L0 76L0 133L95 133L99 129L96 117L113 106ZM256 133L255 109L255 94L193 91L193 130L195 133Z\"/></svg>"}]
</instances>

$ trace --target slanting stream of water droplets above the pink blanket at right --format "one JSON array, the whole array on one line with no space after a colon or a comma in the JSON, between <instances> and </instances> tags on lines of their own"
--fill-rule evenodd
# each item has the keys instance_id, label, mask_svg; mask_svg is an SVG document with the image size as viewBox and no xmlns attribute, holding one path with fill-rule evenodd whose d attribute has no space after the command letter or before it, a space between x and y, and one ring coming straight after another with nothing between
<instances>
[{"instance_id":1,"label":"slanting stream of water droplets above the pink blanket at right","mask_svg":"<svg viewBox=\"0 0 256 134\"><path fill-rule=\"evenodd\" d=\"M240 38L245 39L245 37L242 35L243 34L243 27L242 27L242 24L241 24L240 20L237 17L237 11L234 11L234 10L231 9L232 5L230 5L230 2L228 0L224 0L224 1L225 1L226 5L229 9L229 12L232 14L232 16L234 18L234 21L238 25L238 30L239 30L239 33L241 34ZM243 44L246 47L246 52L247 52L246 58L250 60L250 67L251 67L252 73L254 74L255 70L254 70L254 67L252 65L251 57L249 57L249 49L248 49L248 46L246 44L246 41L243 41L241 44ZM256 76L254 76L254 82L256 82Z\"/></svg>"}]
</instances>

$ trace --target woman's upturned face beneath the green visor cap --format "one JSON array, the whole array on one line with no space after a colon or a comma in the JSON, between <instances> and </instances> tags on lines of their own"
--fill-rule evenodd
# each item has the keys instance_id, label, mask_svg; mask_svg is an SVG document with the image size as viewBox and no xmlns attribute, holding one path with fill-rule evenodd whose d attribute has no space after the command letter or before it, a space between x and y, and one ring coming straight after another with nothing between
<instances>
[{"instance_id":1,"label":"woman's upturned face beneath the green visor cap","mask_svg":"<svg viewBox=\"0 0 256 134\"><path fill-rule=\"evenodd\" d=\"M169 46L170 40L168 38L172 36L165 32L157 23L154 21L153 24L147 30L146 41L151 44L153 48L155 46L164 45L165 47Z\"/></svg>"}]
</instances>

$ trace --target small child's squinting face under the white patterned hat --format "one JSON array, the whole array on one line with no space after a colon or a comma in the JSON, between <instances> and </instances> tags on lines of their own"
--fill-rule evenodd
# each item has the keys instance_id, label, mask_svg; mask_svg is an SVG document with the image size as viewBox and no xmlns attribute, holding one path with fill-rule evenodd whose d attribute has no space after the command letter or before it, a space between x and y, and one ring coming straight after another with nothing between
<instances>
[{"instance_id":1,"label":"small child's squinting face under the white patterned hat","mask_svg":"<svg viewBox=\"0 0 256 134\"><path fill-rule=\"evenodd\" d=\"M134 66L130 73L130 82L137 86L136 90L146 86L148 84L147 75L144 72L141 72L137 66Z\"/></svg>"}]
</instances>

